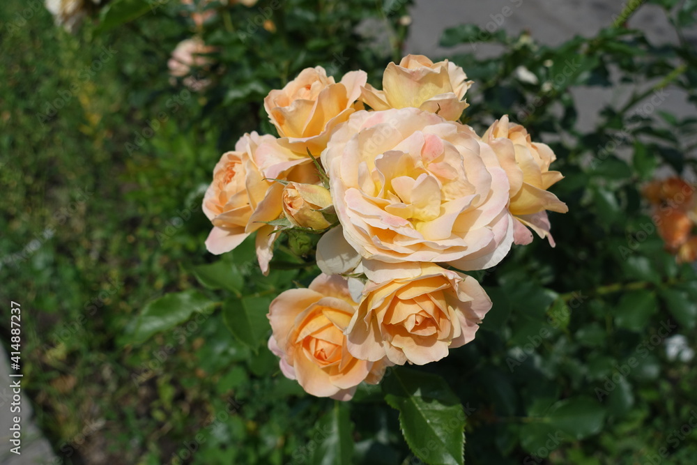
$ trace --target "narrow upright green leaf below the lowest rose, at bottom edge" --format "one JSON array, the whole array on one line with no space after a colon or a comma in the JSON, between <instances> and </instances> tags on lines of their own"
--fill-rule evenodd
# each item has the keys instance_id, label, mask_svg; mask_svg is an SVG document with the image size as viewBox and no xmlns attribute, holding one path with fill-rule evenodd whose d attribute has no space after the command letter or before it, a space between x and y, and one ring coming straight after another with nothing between
<instances>
[{"instance_id":1,"label":"narrow upright green leaf below the lowest rose, at bottom edge","mask_svg":"<svg viewBox=\"0 0 697 465\"><path fill-rule=\"evenodd\" d=\"M348 404L336 401L319 422L314 440L312 465L351 465L353 456L353 423L348 418Z\"/></svg>"}]
</instances>

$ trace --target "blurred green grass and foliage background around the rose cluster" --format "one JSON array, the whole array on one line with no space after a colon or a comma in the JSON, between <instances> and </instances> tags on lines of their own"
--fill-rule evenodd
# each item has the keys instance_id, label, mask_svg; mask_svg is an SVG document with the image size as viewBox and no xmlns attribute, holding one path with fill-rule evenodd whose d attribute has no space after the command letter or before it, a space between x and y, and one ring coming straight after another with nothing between
<instances>
[{"instance_id":1,"label":"blurred green grass and foliage background around the rose cluster","mask_svg":"<svg viewBox=\"0 0 697 465\"><path fill-rule=\"evenodd\" d=\"M30 3L0 10L0 335L9 349L7 303L21 303L25 399L50 463L422 463L380 387L341 406L310 397L280 374L268 328L259 340L231 334L222 302L263 314L316 269L281 251L263 278L249 244L211 256L200 209L220 153L243 132L275 134L261 106L270 89L317 65L335 77L363 69L379 86L403 54L409 2L211 2L217 15L197 27L177 2L118 0L74 34ZM696 2L651 3L681 38L694 26ZM367 20L384 40L355 32ZM192 70L210 82L201 91L167 69L196 34L216 47ZM555 249L514 247L474 274L494 301L477 340L420 368L465 406L466 462L695 463L697 433L684 425L697 420L697 372L668 353L662 328L694 354L696 272L647 226L640 189L661 167L694 182L697 118L633 111L661 89L697 102L694 45L655 46L622 21L559 47L473 25L445 31L441 45L482 38L500 54L447 56L476 82L464 122L481 133L516 115L550 144L569 213L551 215ZM569 56L578 69L555 79ZM519 66L537 82L516 78ZM569 89L618 82L632 86L624 104L579 132ZM599 150L613 141L620 148ZM146 304L169 292L205 311L145 321ZM348 436L327 429L337 418ZM332 441L346 437L351 455L337 462Z\"/></svg>"}]
</instances>

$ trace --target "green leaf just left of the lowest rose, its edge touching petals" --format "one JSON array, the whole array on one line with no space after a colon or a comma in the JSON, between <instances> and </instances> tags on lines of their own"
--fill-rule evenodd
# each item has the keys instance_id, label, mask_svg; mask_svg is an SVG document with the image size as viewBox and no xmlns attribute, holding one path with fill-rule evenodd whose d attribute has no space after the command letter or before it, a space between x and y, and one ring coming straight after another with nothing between
<instances>
[{"instance_id":1,"label":"green leaf just left of the lowest rose, its edge touching petals","mask_svg":"<svg viewBox=\"0 0 697 465\"><path fill-rule=\"evenodd\" d=\"M266 318L268 297L245 296L240 299L226 300L222 305L222 317L225 325L240 342L251 349L259 349L262 340L268 334L269 323Z\"/></svg>"}]
</instances>

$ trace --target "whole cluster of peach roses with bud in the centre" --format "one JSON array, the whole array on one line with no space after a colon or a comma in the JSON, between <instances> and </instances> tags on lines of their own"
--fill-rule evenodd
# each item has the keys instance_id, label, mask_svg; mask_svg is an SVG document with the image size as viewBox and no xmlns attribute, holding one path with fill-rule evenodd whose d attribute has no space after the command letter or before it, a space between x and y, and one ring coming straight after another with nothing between
<instances>
[{"instance_id":1,"label":"whole cluster of peach roses with bud in the centre","mask_svg":"<svg viewBox=\"0 0 697 465\"><path fill-rule=\"evenodd\" d=\"M390 365L435 362L475 337L491 300L459 270L495 266L548 238L555 155L507 116L483 137L459 123L472 84L449 61L390 63L383 90L353 71L307 68L264 100L280 138L245 134L213 172L206 246L256 231L268 273L278 228L323 234L322 274L270 305L269 348L312 395L350 399ZM365 105L369 106L366 109Z\"/></svg>"}]
</instances>

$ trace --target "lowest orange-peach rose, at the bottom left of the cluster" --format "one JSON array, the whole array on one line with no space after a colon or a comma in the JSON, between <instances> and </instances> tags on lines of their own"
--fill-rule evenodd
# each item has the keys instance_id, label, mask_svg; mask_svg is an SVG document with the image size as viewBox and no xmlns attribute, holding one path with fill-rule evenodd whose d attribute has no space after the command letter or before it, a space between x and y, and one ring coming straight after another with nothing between
<instances>
[{"instance_id":1,"label":"lowest orange-peach rose, at the bottom left of the cluster","mask_svg":"<svg viewBox=\"0 0 697 465\"><path fill-rule=\"evenodd\" d=\"M346 280L319 275L308 289L290 289L270 305L268 346L283 374L312 395L348 400L362 381L382 379L387 360L358 360L346 348L344 330L355 313Z\"/></svg>"}]
</instances>

